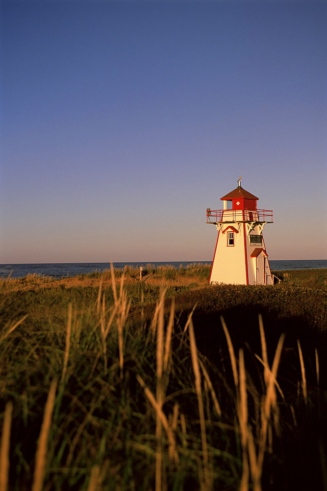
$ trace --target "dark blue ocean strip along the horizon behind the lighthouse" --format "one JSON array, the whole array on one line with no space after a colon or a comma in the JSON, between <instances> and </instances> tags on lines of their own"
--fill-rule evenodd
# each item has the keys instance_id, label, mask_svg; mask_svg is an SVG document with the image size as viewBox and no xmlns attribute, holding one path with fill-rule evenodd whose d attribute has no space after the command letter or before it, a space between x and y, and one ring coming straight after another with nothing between
<instances>
[{"instance_id":1,"label":"dark blue ocean strip along the horizon behind the lighthouse","mask_svg":"<svg viewBox=\"0 0 327 491\"><path fill-rule=\"evenodd\" d=\"M193 263L211 264L211 261L161 261L161 262L139 262L139 263L113 263L115 268L124 268L130 265L136 268L152 264L153 266L172 265L179 268L180 265L187 266ZM327 268L327 259L309 260L287 260L269 261L272 270L306 270L311 268ZM26 274L42 274L62 278L75 276L76 274L91 273L92 271L103 271L110 269L110 263L40 263L40 264L0 264L0 277L11 276L20 278Z\"/></svg>"}]
</instances>

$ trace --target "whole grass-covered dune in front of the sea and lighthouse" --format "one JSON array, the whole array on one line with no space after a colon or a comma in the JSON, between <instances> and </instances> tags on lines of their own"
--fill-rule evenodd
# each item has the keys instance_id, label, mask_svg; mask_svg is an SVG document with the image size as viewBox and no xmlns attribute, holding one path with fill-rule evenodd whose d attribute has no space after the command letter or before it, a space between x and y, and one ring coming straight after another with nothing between
<instances>
[{"instance_id":1,"label":"whole grass-covered dune in front of the sea and lighthouse","mask_svg":"<svg viewBox=\"0 0 327 491\"><path fill-rule=\"evenodd\" d=\"M327 271L113 273L0 282L0 489L326 489Z\"/></svg>"}]
</instances>

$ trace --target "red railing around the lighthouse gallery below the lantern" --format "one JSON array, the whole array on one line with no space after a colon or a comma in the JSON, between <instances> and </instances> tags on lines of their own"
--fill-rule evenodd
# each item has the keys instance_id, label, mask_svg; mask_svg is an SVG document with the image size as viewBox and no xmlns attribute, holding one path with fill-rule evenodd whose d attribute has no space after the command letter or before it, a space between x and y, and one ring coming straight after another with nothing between
<instances>
[{"instance_id":1,"label":"red railing around the lighthouse gallery below the lantern","mask_svg":"<svg viewBox=\"0 0 327 491\"><path fill-rule=\"evenodd\" d=\"M233 221L273 222L273 210L210 210L207 209L207 223Z\"/></svg>"}]
</instances>

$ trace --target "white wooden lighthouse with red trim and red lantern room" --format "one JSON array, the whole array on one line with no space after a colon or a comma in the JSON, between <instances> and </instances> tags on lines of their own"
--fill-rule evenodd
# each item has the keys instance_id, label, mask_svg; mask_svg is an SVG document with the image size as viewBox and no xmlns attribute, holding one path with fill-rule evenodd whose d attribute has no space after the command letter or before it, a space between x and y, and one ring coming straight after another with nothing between
<instances>
[{"instance_id":1,"label":"white wooden lighthouse with red trim and red lantern room","mask_svg":"<svg viewBox=\"0 0 327 491\"><path fill-rule=\"evenodd\" d=\"M218 231L209 283L273 285L262 231L273 223L272 210L257 209L259 199L241 186L220 198L222 210L207 208L206 222Z\"/></svg>"}]
</instances>

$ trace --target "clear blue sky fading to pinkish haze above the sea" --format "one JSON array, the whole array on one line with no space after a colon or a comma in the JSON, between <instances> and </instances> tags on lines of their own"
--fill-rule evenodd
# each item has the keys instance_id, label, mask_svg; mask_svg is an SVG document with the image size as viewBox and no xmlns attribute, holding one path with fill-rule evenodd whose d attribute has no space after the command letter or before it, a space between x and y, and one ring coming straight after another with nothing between
<instances>
[{"instance_id":1,"label":"clear blue sky fading to pinkish haze above the sea","mask_svg":"<svg viewBox=\"0 0 327 491\"><path fill-rule=\"evenodd\" d=\"M1 5L0 262L205 261L205 210L327 258L325 1Z\"/></svg>"}]
</instances>

